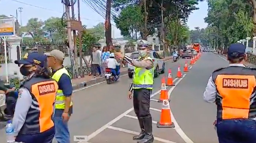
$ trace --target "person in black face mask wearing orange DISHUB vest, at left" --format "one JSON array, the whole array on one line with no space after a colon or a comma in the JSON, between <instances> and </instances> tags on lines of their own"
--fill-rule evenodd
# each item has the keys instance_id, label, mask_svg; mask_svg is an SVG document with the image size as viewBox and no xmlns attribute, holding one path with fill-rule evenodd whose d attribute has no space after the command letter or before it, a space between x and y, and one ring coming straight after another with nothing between
<instances>
[{"instance_id":1,"label":"person in black face mask wearing orange DISHUB vest, at left","mask_svg":"<svg viewBox=\"0 0 256 143\"><path fill-rule=\"evenodd\" d=\"M27 53L20 64L26 76L19 90L12 125L16 142L52 143L55 128L52 120L58 84L45 67L47 57L37 52Z\"/></svg>"}]
</instances>

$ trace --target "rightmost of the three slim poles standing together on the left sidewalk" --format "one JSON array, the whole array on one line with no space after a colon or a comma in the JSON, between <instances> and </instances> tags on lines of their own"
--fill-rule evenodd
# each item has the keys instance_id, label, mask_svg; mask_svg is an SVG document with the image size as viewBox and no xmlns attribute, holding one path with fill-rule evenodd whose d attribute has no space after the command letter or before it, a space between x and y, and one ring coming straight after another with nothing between
<instances>
[{"instance_id":1,"label":"rightmost of the three slim poles standing together on the left sidewalk","mask_svg":"<svg viewBox=\"0 0 256 143\"><path fill-rule=\"evenodd\" d=\"M80 19L80 0L77 0L77 6L78 6L78 21L81 21ZM79 62L80 62L80 70L81 70L81 74L80 76L83 78L84 74L82 72L82 68L83 68L83 52L82 52L82 31L79 31L78 33L78 37L79 37Z\"/></svg>"}]
</instances>

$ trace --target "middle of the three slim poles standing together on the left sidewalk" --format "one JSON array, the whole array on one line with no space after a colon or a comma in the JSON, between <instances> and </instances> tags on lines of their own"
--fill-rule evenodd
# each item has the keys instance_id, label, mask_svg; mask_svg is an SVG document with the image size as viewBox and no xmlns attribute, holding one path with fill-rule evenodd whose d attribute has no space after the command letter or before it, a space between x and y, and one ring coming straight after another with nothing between
<instances>
[{"instance_id":1,"label":"middle of the three slim poles standing together on the left sidewalk","mask_svg":"<svg viewBox=\"0 0 256 143\"><path fill-rule=\"evenodd\" d=\"M74 0L71 0L71 12L72 12L72 20L75 20ZM75 69L76 69L75 76L77 76L79 72L78 72L77 47L76 47L76 31L75 30L73 30L73 38L74 38L74 58L75 58Z\"/></svg>"}]
</instances>

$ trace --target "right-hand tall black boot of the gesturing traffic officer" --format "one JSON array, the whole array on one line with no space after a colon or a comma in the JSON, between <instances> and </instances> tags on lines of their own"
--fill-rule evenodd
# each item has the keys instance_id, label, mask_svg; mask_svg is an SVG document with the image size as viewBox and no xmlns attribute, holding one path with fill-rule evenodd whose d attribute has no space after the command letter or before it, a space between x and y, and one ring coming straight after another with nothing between
<instances>
[{"instance_id":1,"label":"right-hand tall black boot of the gesturing traffic officer","mask_svg":"<svg viewBox=\"0 0 256 143\"><path fill-rule=\"evenodd\" d=\"M145 135L144 138L139 140L137 143L153 143L154 137L152 135L152 117L142 118Z\"/></svg>"}]
</instances>

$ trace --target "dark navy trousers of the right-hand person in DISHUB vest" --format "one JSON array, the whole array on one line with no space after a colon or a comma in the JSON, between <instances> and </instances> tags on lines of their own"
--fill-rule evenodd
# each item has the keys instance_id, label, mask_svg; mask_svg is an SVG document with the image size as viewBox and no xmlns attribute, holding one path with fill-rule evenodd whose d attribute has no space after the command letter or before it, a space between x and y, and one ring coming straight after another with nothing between
<instances>
[{"instance_id":1,"label":"dark navy trousers of the right-hand person in DISHUB vest","mask_svg":"<svg viewBox=\"0 0 256 143\"><path fill-rule=\"evenodd\" d=\"M219 143L256 143L256 121L251 119L217 119Z\"/></svg>"}]
</instances>

